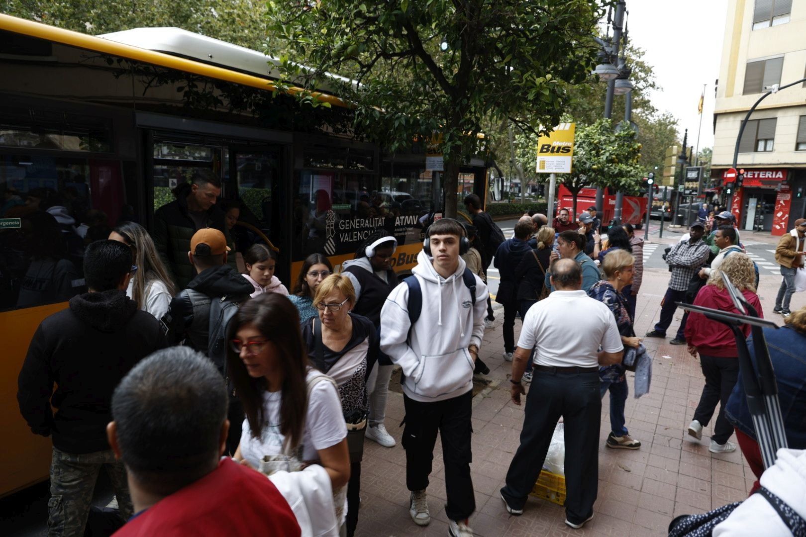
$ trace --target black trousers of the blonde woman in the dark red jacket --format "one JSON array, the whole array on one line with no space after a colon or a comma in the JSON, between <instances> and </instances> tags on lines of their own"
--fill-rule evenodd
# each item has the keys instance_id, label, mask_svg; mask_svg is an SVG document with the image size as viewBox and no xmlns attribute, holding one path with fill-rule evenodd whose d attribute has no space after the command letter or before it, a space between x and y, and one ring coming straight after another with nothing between
<instances>
[{"instance_id":1,"label":"black trousers of the blonde woman in the dark red jacket","mask_svg":"<svg viewBox=\"0 0 806 537\"><path fill-rule=\"evenodd\" d=\"M725 444L733 434L733 425L725 418L725 405L728 404L733 386L736 386L739 378L739 360L700 354L700 366L705 376L705 386L700 395L700 404L694 411L694 419L703 427L708 425L719 403L719 414L717 422L713 424L711 440L717 444Z\"/></svg>"}]
</instances>

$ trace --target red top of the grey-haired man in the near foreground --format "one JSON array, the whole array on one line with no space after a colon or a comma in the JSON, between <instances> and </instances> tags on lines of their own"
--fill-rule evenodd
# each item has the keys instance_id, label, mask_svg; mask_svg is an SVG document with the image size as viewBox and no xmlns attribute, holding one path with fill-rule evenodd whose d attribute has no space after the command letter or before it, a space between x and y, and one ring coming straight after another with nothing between
<instances>
[{"instance_id":1,"label":"red top of the grey-haired man in the near foreground","mask_svg":"<svg viewBox=\"0 0 806 537\"><path fill-rule=\"evenodd\" d=\"M142 511L114 537L300 535L289 503L268 477L222 459L218 468Z\"/></svg>"}]
</instances>

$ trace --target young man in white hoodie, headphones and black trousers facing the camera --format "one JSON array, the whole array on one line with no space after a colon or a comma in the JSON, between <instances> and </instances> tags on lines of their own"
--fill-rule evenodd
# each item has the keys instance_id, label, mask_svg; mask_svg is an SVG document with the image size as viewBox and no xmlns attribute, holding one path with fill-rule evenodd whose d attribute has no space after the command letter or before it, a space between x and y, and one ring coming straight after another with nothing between
<instances>
[{"instance_id":1,"label":"young man in white hoodie, headphones and black trousers facing the camera","mask_svg":"<svg viewBox=\"0 0 806 537\"><path fill-rule=\"evenodd\" d=\"M428 476L437 432L445 464L448 532L473 535L467 518L476 510L471 461L473 368L484 336L487 286L477 276L472 287L463 280L467 237L459 222L443 218L426 233L414 267L422 295L420 316L409 320L409 284L401 283L380 312L380 349L401 366L404 375L406 486L409 514L426 526Z\"/></svg>"}]
</instances>

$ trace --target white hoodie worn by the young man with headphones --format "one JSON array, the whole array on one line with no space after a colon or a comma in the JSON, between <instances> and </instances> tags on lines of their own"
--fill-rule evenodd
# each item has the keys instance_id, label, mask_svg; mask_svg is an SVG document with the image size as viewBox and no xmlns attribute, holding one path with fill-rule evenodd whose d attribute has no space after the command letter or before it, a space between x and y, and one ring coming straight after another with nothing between
<instances>
[{"instance_id":1,"label":"white hoodie worn by the young man with headphones","mask_svg":"<svg viewBox=\"0 0 806 537\"><path fill-rule=\"evenodd\" d=\"M380 349L401 366L403 391L426 403L452 399L473 387L473 360L467 347L481 346L487 286L476 278L476 304L464 285L465 264L447 279L434 270L432 259L421 251L412 270L422 289L420 318L409 322L409 287L401 283L380 312ZM409 328L411 339L409 341Z\"/></svg>"}]
</instances>

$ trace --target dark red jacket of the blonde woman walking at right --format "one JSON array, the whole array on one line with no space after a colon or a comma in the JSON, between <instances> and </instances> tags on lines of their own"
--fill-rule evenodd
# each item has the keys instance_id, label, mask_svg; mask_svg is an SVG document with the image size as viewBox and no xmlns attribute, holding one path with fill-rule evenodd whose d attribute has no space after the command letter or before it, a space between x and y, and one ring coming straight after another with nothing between
<instances>
[{"instance_id":1,"label":"dark red jacket of the blonde woman walking at right","mask_svg":"<svg viewBox=\"0 0 806 537\"><path fill-rule=\"evenodd\" d=\"M747 302L753 306L758 315L763 316L761 302L758 295L753 291L742 291ZM694 304L705 308L718 309L723 312L738 313L733 306L727 289L719 289L713 285L706 285L697 293ZM750 336L750 325L742 326L745 337ZM694 345L697 352L706 356L717 356L726 358L738 357L736 340L733 332L716 320L706 318L702 313L690 312L686 321L686 341L689 345Z\"/></svg>"}]
</instances>

